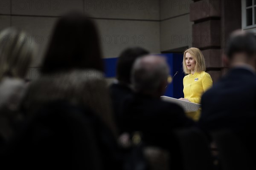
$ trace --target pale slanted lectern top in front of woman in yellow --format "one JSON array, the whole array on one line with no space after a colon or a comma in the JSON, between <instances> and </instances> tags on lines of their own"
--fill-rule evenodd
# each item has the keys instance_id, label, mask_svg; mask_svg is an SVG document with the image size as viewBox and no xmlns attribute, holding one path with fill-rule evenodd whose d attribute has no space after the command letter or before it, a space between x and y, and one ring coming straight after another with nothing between
<instances>
[{"instance_id":1,"label":"pale slanted lectern top in front of woman in yellow","mask_svg":"<svg viewBox=\"0 0 256 170\"><path fill-rule=\"evenodd\" d=\"M201 107L201 104L192 103L192 102L189 102L189 101L182 101L182 100L179 100L177 98L171 98L171 97L168 97L168 96L161 96L161 99L163 101L168 101L168 102L171 102L171 103L178 104L180 107L183 108L183 110L185 112L195 112Z\"/></svg>"}]
</instances>

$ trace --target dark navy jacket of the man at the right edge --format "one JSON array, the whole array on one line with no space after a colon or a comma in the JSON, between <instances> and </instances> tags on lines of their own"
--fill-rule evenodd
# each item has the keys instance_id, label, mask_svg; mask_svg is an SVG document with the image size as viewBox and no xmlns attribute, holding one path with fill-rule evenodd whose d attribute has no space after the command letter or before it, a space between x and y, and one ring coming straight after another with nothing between
<instances>
[{"instance_id":1,"label":"dark navy jacket of the man at the right edge","mask_svg":"<svg viewBox=\"0 0 256 170\"><path fill-rule=\"evenodd\" d=\"M255 103L255 74L233 68L202 96L199 125L204 130L247 128L255 121Z\"/></svg>"}]
</instances>

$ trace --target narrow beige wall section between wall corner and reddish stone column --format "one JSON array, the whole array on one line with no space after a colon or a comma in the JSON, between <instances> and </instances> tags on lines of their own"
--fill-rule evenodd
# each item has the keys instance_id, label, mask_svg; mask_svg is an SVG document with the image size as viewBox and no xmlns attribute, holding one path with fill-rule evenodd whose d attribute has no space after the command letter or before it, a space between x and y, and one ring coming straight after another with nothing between
<instances>
[{"instance_id":1,"label":"narrow beige wall section between wall corner and reddish stone column","mask_svg":"<svg viewBox=\"0 0 256 170\"><path fill-rule=\"evenodd\" d=\"M192 0L160 1L161 52L175 52L192 46L193 22L189 20L191 3Z\"/></svg>"}]
</instances>

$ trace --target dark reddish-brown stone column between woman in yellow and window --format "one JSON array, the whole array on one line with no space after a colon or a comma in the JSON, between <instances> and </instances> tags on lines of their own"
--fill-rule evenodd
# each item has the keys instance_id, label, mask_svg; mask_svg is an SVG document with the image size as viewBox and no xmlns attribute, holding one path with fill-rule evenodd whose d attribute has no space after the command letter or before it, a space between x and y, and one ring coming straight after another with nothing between
<instances>
[{"instance_id":1,"label":"dark reddish-brown stone column between woman in yellow and window","mask_svg":"<svg viewBox=\"0 0 256 170\"><path fill-rule=\"evenodd\" d=\"M222 52L228 35L241 29L240 0L194 0L190 4L192 46L204 54L207 72L213 82L225 72Z\"/></svg>"}]
</instances>

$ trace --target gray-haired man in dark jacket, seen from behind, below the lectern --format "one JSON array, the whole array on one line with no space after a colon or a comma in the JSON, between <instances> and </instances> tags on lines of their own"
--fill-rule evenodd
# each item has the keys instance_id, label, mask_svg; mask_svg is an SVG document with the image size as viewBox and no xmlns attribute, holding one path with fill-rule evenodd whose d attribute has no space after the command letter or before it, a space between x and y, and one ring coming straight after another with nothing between
<instances>
[{"instance_id":1,"label":"gray-haired man in dark jacket, seen from behind, below the lectern","mask_svg":"<svg viewBox=\"0 0 256 170\"><path fill-rule=\"evenodd\" d=\"M127 97L122 106L122 132L140 131L146 145L167 149L172 129L195 124L181 107L160 99L168 75L165 58L155 55L138 58L131 73L134 95Z\"/></svg>"}]
</instances>

